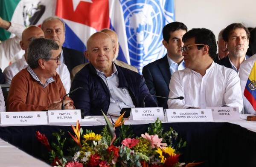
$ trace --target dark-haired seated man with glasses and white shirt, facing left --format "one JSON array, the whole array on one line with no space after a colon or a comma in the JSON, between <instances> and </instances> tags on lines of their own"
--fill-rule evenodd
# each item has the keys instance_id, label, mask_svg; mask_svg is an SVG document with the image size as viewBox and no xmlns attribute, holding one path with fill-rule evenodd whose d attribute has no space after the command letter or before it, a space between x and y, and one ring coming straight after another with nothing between
<instances>
[{"instance_id":1,"label":"dark-haired seated man with glasses and white shirt, facing left","mask_svg":"<svg viewBox=\"0 0 256 167\"><path fill-rule=\"evenodd\" d=\"M217 45L212 31L193 28L182 38L181 48L186 69L176 71L170 81L169 97L184 96L183 100L168 100L169 108L243 108L238 74L216 64Z\"/></svg>"}]
</instances>

